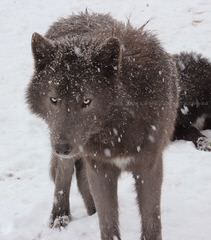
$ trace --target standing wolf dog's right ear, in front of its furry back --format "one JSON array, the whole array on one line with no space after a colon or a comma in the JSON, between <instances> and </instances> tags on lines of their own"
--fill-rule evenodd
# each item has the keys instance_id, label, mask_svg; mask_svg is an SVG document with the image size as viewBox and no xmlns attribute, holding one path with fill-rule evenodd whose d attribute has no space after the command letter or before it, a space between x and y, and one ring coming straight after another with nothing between
<instances>
[{"instance_id":1,"label":"standing wolf dog's right ear, in front of its furry back","mask_svg":"<svg viewBox=\"0 0 211 240\"><path fill-rule=\"evenodd\" d=\"M95 55L95 64L108 75L115 73L119 65L120 48L120 41L117 38L106 39Z\"/></svg>"}]
</instances>

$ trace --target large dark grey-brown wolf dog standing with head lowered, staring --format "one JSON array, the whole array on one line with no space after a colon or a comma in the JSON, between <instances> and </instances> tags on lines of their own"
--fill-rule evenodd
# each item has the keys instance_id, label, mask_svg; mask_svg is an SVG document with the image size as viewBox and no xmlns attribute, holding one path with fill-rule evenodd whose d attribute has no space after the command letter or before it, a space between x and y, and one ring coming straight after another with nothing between
<instances>
[{"instance_id":1,"label":"large dark grey-brown wolf dog standing with head lowered, staring","mask_svg":"<svg viewBox=\"0 0 211 240\"><path fill-rule=\"evenodd\" d=\"M34 33L32 51L27 99L50 129L52 226L70 220L75 165L88 213L96 207L101 239L121 239L117 181L126 170L135 179L141 239L161 240L162 152L178 106L172 58L143 28L87 12L59 20L45 36Z\"/></svg>"}]
</instances>

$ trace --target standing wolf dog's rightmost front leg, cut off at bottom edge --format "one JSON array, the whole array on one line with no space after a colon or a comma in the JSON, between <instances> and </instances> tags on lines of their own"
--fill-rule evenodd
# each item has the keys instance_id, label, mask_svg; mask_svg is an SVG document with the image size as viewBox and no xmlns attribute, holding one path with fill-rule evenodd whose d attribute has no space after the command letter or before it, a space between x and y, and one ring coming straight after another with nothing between
<instances>
[{"instance_id":1,"label":"standing wolf dog's rightmost front leg, cut off at bottom edge","mask_svg":"<svg viewBox=\"0 0 211 240\"><path fill-rule=\"evenodd\" d=\"M136 168L133 176L142 218L141 240L162 240L160 213L162 157L158 158L151 168L145 167L140 170Z\"/></svg>"}]
</instances>

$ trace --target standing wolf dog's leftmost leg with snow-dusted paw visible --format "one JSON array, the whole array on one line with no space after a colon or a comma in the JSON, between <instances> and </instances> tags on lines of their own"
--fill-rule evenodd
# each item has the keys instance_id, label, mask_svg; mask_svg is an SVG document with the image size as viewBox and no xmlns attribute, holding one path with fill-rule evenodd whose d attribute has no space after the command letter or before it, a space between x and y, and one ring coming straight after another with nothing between
<instances>
[{"instance_id":1,"label":"standing wolf dog's leftmost leg with snow-dusted paw visible","mask_svg":"<svg viewBox=\"0 0 211 240\"><path fill-rule=\"evenodd\" d=\"M50 227L65 227L71 220L69 193L73 171L73 160L52 156L51 176L55 183L55 190Z\"/></svg>"}]
</instances>

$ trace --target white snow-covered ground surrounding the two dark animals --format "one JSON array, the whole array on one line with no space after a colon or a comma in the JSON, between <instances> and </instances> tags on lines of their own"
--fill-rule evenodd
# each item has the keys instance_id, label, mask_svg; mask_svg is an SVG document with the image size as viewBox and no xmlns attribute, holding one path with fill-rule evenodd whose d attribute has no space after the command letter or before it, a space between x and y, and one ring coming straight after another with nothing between
<instances>
[{"instance_id":1,"label":"white snow-covered ground surrounding the two dark animals","mask_svg":"<svg viewBox=\"0 0 211 240\"><path fill-rule=\"evenodd\" d=\"M32 116L24 91L32 74L31 34L44 33L59 16L85 8L130 17L140 26L148 19L164 47L175 53L195 50L211 59L210 0L1 0L0 1L0 239L99 239L97 216L88 217L73 182L74 221L62 232L49 230L53 184L48 168L46 125ZM210 134L211 132L207 132ZM211 239L211 153L178 141L165 151L162 195L166 240ZM139 239L139 218L130 175L119 187L122 239Z\"/></svg>"}]
</instances>

